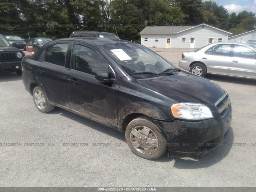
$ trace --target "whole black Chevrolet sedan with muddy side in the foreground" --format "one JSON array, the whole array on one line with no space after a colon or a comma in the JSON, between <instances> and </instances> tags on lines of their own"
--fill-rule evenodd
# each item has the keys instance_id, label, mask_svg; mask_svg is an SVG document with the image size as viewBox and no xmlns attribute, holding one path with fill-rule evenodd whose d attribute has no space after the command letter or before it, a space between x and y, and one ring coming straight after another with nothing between
<instances>
[{"instance_id":1,"label":"whole black Chevrolet sedan with muddy side in the foreground","mask_svg":"<svg viewBox=\"0 0 256 192\"><path fill-rule=\"evenodd\" d=\"M232 121L220 86L133 42L53 40L25 56L22 67L40 112L58 106L125 132L142 158L159 158L167 148L171 156L200 158L222 144Z\"/></svg>"}]
</instances>

